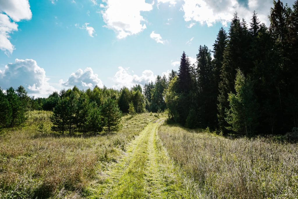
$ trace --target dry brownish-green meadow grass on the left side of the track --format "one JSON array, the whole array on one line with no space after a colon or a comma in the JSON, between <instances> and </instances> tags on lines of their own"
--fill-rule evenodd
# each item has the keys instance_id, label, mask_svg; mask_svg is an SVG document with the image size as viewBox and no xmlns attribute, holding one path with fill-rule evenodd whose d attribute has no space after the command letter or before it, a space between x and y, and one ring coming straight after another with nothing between
<instances>
[{"instance_id":1,"label":"dry brownish-green meadow grass on the left side of the track","mask_svg":"<svg viewBox=\"0 0 298 199\"><path fill-rule=\"evenodd\" d=\"M126 145L156 119L122 117L119 132L83 137L50 130L51 112L32 111L23 129L0 135L0 198L80 198L93 179L118 161ZM38 132L43 122L46 131Z\"/></svg>"}]
</instances>

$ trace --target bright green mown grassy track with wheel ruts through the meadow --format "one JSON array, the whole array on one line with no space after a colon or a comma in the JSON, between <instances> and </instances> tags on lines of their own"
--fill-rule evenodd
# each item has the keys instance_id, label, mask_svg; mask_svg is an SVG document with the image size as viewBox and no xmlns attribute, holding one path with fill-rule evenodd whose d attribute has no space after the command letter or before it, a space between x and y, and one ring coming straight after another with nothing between
<instances>
[{"instance_id":1,"label":"bright green mown grassy track with wheel ruts through the meadow","mask_svg":"<svg viewBox=\"0 0 298 199\"><path fill-rule=\"evenodd\" d=\"M175 167L157 137L162 121L148 124L140 132L89 198L186 198Z\"/></svg>"}]
</instances>

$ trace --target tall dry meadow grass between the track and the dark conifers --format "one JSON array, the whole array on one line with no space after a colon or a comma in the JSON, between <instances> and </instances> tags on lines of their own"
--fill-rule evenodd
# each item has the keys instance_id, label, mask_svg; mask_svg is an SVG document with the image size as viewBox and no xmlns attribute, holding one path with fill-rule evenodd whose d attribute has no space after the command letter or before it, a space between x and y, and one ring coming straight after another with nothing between
<instances>
[{"instance_id":1,"label":"tall dry meadow grass between the track and the dark conifers","mask_svg":"<svg viewBox=\"0 0 298 199\"><path fill-rule=\"evenodd\" d=\"M298 144L167 124L158 135L191 198L298 198Z\"/></svg>"}]
</instances>

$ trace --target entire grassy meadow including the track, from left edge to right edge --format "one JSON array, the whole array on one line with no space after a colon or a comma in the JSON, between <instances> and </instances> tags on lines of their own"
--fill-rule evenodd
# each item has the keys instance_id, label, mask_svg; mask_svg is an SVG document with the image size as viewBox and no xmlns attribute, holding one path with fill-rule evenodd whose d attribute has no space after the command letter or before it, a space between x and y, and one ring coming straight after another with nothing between
<instances>
[{"instance_id":1,"label":"entire grassy meadow including the track, from left edge to right edge","mask_svg":"<svg viewBox=\"0 0 298 199\"><path fill-rule=\"evenodd\" d=\"M153 113L123 116L119 132L62 136L50 114L1 132L0 198L298 198L296 143L226 138Z\"/></svg>"}]
</instances>

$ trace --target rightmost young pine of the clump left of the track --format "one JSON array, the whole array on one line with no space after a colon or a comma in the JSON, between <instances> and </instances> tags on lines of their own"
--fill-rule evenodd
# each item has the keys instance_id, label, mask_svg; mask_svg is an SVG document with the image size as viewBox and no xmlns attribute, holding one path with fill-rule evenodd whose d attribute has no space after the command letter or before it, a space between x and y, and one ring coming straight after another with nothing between
<instances>
[{"instance_id":1,"label":"rightmost young pine of the clump left of the track","mask_svg":"<svg viewBox=\"0 0 298 199\"><path fill-rule=\"evenodd\" d=\"M137 91L139 92L139 90ZM104 101L101 108L104 128L107 132L117 131L122 128L121 122L121 111L114 99L108 98Z\"/></svg>"}]
</instances>

